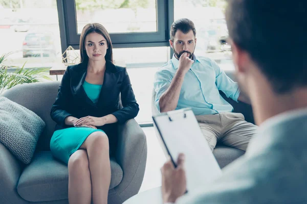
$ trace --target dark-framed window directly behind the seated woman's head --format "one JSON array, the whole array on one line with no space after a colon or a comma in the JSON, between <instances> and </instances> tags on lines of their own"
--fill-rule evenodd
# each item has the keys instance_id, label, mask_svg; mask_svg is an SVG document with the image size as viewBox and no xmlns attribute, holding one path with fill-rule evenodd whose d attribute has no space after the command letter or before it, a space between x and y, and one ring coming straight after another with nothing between
<instances>
[{"instance_id":1,"label":"dark-framed window directly behind the seated woman's head","mask_svg":"<svg viewBox=\"0 0 307 204\"><path fill-rule=\"evenodd\" d=\"M105 26L114 47L167 46L164 0L68 0L63 8L67 45L75 48L84 25L93 22Z\"/></svg>"}]
</instances>

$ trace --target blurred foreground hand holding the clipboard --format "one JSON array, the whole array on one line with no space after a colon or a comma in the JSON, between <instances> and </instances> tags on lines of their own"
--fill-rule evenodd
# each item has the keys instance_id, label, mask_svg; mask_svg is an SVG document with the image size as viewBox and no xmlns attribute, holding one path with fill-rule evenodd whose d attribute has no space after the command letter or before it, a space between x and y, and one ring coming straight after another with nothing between
<instances>
[{"instance_id":1,"label":"blurred foreground hand holding the clipboard","mask_svg":"<svg viewBox=\"0 0 307 204\"><path fill-rule=\"evenodd\" d=\"M161 168L163 202L176 202L186 192L187 181L184 170L184 154L179 154L177 168L167 161Z\"/></svg>"}]
</instances>

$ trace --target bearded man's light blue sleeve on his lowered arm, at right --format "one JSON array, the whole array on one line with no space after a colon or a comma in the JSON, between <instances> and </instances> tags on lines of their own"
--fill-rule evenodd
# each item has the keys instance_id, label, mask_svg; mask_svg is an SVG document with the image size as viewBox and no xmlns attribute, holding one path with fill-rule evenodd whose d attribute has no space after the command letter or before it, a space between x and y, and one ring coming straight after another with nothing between
<instances>
[{"instance_id":1,"label":"bearded man's light blue sleeve on his lowered arm, at right","mask_svg":"<svg viewBox=\"0 0 307 204\"><path fill-rule=\"evenodd\" d=\"M232 81L215 61L212 60L211 63L215 70L215 84L217 89L223 91L228 98L232 98L238 102L240 95L238 83Z\"/></svg>"}]
</instances>

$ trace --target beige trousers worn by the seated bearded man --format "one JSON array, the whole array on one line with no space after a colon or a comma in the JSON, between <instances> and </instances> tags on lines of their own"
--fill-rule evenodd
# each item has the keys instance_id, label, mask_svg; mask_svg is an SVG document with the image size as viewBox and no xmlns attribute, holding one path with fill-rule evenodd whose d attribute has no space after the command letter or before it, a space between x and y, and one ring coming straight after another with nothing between
<instances>
[{"instance_id":1,"label":"beige trousers worn by the seated bearded man","mask_svg":"<svg viewBox=\"0 0 307 204\"><path fill-rule=\"evenodd\" d=\"M197 115L196 119L212 151L217 142L246 151L257 130L257 126L245 121L241 113Z\"/></svg>"}]
</instances>

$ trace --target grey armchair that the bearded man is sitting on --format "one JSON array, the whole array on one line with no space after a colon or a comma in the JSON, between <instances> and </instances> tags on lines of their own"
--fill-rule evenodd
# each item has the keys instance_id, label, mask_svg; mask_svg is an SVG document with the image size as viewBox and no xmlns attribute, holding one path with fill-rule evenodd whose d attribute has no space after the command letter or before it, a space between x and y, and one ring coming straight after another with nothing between
<instances>
[{"instance_id":1,"label":"grey armchair that the bearded man is sitting on","mask_svg":"<svg viewBox=\"0 0 307 204\"><path fill-rule=\"evenodd\" d=\"M232 80L236 80L234 77L233 71L226 71L226 74L228 77L230 77ZM242 113L246 119L246 121L254 123L254 118L253 118L253 112L252 108L250 105L247 105L245 103L239 102L237 103L236 101L227 98L226 95L223 92L220 92L220 94L223 96L224 99L230 103L233 108L234 112L236 113ZM152 96L151 96L151 112L152 115L158 115L160 112L158 111L157 107L155 106L155 97L156 97L156 92L155 90L152 91ZM213 150L213 155L221 168L224 168L226 165L234 161L235 159L239 158L240 156L244 155L245 151L224 146L222 144L216 145L215 149Z\"/></svg>"}]
</instances>

